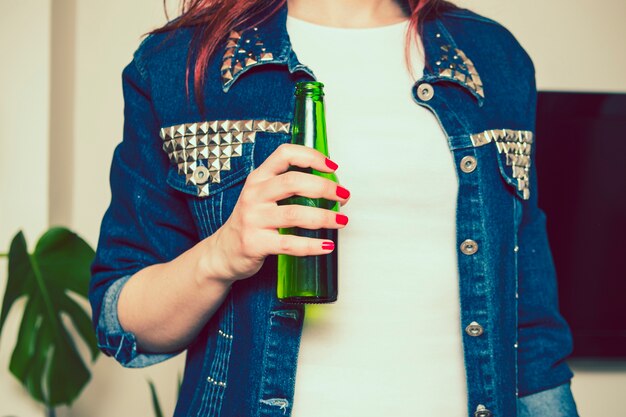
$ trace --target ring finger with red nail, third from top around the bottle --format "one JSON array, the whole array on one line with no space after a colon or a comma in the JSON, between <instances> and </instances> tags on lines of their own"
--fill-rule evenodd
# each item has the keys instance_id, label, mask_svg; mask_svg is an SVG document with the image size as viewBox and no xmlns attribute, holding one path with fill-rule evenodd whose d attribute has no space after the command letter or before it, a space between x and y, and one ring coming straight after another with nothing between
<instances>
[{"instance_id":1,"label":"ring finger with red nail, third from top around the bottle","mask_svg":"<svg viewBox=\"0 0 626 417\"><path fill-rule=\"evenodd\" d=\"M263 227L271 229L281 227L301 227L309 230L341 229L348 224L348 216L332 210L290 204L271 208L261 221Z\"/></svg>"}]
</instances>

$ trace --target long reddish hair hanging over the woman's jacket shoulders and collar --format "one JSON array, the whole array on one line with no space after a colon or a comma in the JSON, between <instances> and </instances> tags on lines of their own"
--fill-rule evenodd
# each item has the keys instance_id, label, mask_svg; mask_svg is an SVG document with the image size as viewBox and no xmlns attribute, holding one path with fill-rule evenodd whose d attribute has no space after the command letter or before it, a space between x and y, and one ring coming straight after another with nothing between
<instances>
[{"instance_id":1,"label":"long reddish hair hanging over the woman's jacket shoulders and collar","mask_svg":"<svg viewBox=\"0 0 626 417\"><path fill-rule=\"evenodd\" d=\"M235 28L250 28L263 22L285 5L287 0L181 0L180 16L165 26L152 31L161 33L182 27L196 26L187 55L185 85L193 78L196 100L202 102L209 59L220 49L222 42ZM166 0L164 0L165 6ZM454 7L445 0L402 0L410 14L405 57L410 68L410 45L416 41L422 23L443 8ZM189 91L187 91L189 95Z\"/></svg>"}]
</instances>

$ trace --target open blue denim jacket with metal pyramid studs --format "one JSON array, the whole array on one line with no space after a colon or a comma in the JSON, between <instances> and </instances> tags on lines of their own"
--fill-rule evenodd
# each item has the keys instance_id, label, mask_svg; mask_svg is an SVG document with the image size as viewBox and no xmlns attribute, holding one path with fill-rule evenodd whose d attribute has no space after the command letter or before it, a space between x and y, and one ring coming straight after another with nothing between
<instances>
[{"instance_id":1,"label":"open blue denim jacket with metal pyramid studs","mask_svg":"<svg viewBox=\"0 0 626 417\"><path fill-rule=\"evenodd\" d=\"M295 83L315 76L291 49L286 14L285 6L230 34L209 63L204 111L193 86L189 99L185 88L195 29L149 36L124 69L124 135L90 289L99 346L124 366L179 352L138 349L117 319L123 284L214 233L250 171L290 140ZM463 9L427 20L423 42L426 68L412 93L440 121L459 180L468 415L512 417L518 397L572 376L564 362L571 336L537 207L534 68L506 29ZM188 346L175 416L289 415L303 309L277 300L275 271L270 257L257 276L235 283Z\"/></svg>"}]
</instances>

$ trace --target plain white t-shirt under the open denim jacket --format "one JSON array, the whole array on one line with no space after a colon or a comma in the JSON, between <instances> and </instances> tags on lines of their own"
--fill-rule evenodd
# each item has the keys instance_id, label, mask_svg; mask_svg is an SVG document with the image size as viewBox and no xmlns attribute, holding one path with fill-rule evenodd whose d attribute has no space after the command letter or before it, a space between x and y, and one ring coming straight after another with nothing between
<instances>
[{"instance_id":1,"label":"plain white t-shirt under the open denim jacket","mask_svg":"<svg viewBox=\"0 0 626 417\"><path fill-rule=\"evenodd\" d=\"M458 180L436 117L413 101L407 26L287 20L298 60L325 85L330 157L352 194L339 299L306 306L293 417L467 415Z\"/></svg>"}]
</instances>

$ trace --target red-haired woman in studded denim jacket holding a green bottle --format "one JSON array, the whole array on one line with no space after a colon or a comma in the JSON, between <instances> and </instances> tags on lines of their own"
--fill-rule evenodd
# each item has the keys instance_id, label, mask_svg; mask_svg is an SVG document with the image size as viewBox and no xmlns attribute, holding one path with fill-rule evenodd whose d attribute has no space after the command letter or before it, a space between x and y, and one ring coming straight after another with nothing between
<instances>
[{"instance_id":1,"label":"red-haired woman in studded denim jacket holding a green bottle","mask_svg":"<svg viewBox=\"0 0 626 417\"><path fill-rule=\"evenodd\" d=\"M438 0L184 4L123 74L101 349L128 367L186 349L176 416L577 415L513 36ZM333 160L287 144L315 79ZM293 226L345 228L339 300L306 316L276 299L273 255L334 242Z\"/></svg>"}]
</instances>

